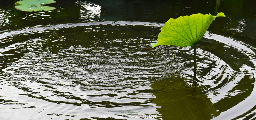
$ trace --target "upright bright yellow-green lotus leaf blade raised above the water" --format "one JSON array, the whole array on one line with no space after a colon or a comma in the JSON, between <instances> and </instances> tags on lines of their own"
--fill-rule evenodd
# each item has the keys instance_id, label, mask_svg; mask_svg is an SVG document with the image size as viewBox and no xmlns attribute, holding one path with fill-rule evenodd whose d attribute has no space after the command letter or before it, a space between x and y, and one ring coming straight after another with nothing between
<instances>
[{"instance_id":1,"label":"upright bright yellow-green lotus leaf blade raised above the water","mask_svg":"<svg viewBox=\"0 0 256 120\"><path fill-rule=\"evenodd\" d=\"M170 18L162 27L157 42L151 43L151 46L153 48L158 45L191 46L203 37L216 17L225 17L225 15L222 12L216 16L198 13L180 16L177 19Z\"/></svg>"}]
</instances>

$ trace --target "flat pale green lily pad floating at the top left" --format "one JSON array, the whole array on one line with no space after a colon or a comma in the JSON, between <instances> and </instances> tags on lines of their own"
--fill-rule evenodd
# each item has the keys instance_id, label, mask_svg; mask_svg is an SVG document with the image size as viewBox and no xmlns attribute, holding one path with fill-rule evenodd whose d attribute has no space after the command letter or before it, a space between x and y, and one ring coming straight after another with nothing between
<instances>
[{"instance_id":1,"label":"flat pale green lily pad floating at the top left","mask_svg":"<svg viewBox=\"0 0 256 120\"><path fill-rule=\"evenodd\" d=\"M21 0L15 3L15 8L26 12L49 11L55 7L44 6L46 4L56 3L54 0Z\"/></svg>"}]
</instances>

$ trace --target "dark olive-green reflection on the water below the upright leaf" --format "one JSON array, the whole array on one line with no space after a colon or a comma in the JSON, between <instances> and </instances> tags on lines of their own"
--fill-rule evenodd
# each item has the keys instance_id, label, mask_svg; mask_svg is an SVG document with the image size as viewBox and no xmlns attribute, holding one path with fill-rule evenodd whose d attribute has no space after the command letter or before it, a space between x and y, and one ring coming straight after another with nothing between
<instances>
[{"instance_id":1,"label":"dark olive-green reflection on the water below the upright leaf","mask_svg":"<svg viewBox=\"0 0 256 120\"><path fill-rule=\"evenodd\" d=\"M157 111L162 119L207 120L218 116L210 98L199 87L189 86L183 78L166 79L151 85L156 96L152 103L161 106Z\"/></svg>"}]
</instances>

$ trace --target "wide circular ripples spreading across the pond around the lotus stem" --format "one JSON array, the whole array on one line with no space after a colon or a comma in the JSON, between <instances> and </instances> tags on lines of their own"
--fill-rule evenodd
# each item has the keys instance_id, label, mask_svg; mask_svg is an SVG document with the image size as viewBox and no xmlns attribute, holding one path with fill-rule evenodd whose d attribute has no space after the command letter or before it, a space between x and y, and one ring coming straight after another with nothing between
<instances>
[{"instance_id":1,"label":"wide circular ripples spreading across the pond around the lotus stem","mask_svg":"<svg viewBox=\"0 0 256 120\"><path fill-rule=\"evenodd\" d=\"M255 48L207 32L197 44L199 85L194 87L192 46L146 49L156 42L155 31L162 25L106 21L3 31L0 37L7 41L0 48L0 108L4 110L0 116L100 119L102 115L156 115L162 119L172 115L164 112L163 104L184 113L205 108L188 101L196 98L209 108L205 119L233 119L248 111L255 114L251 106L256 93ZM15 40L26 35L30 37ZM195 109L179 109L181 103ZM233 108L241 106L243 112ZM119 110L139 112L122 114Z\"/></svg>"}]
</instances>

